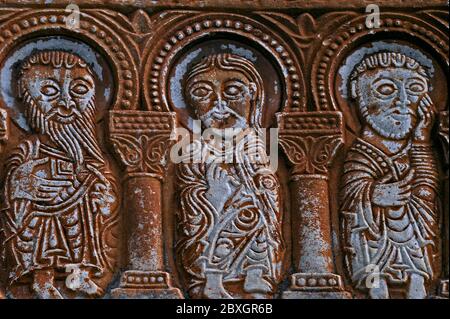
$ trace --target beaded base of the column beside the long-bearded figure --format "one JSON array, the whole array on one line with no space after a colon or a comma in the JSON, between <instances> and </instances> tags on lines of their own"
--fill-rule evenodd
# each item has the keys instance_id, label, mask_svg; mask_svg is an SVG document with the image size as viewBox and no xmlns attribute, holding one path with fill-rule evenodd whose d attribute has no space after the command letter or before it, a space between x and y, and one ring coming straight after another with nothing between
<instances>
[{"instance_id":1,"label":"beaded base of the column beside the long-bearded figure","mask_svg":"<svg viewBox=\"0 0 450 319\"><path fill-rule=\"evenodd\" d=\"M164 271L128 270L122 274L120 287L111 291L114 299L183 299L172 287L170 275Z\"/></svg>"}]
</instances>

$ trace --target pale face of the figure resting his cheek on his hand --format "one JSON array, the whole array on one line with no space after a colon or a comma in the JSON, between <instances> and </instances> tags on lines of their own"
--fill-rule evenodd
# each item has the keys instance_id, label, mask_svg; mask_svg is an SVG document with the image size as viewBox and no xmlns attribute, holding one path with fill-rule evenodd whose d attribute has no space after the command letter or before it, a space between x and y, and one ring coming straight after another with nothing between
<instances>
[{"instance_id":1,"label":"pale face of the figure resting his cheek on his hand","mask_svg":"<svg viewBox=\"0 0 450 319\"><path fill-rule=\"evenodd\" d=\"M361 74L353 95L367 123L380 135L403 139L417 122L419 101L428 92L425 77L405 68L383 68Z\"/></svg>"}]
</instances>

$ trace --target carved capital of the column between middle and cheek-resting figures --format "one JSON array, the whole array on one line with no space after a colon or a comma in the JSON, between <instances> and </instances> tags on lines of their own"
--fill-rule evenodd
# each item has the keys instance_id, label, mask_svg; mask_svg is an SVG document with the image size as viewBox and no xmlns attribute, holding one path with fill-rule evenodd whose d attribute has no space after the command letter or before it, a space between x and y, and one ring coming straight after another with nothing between
<instances>
[{"instance_id":1,"label":"carved capital of the column between middle and cheek-resting figures","mask_svg":"<svg viewBox=\"0 0 450 319\"><path fill-rule=\"evenodd\" d=\"M343 145L341 112L290 112L277 114L279 143L298 175L326 175Z\"/></svg>"}]
</instances>

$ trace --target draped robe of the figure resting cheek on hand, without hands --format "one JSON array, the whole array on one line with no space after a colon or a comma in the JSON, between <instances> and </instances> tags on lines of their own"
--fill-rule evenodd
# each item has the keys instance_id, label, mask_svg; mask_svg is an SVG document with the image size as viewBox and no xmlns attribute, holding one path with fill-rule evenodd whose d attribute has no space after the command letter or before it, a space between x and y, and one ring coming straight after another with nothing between
<instances>
[{"instance_id":1,"label":"draped robe of the figure resting cheek on hand, without hands","mask_svg":"<svg viewBox=\"0 0 450 319\"><path fill-rule=\"evenodd\" d=\"M411 196L403 206L379 207L371 201L375 182L396 182L414 169ZM369 275L404 283L408 274L433 278L437 246L438 178L430 146L407 146L386 155L357 139L342 178L344 251L352 280L366 286Z\"/></svg>"}]
</instances>

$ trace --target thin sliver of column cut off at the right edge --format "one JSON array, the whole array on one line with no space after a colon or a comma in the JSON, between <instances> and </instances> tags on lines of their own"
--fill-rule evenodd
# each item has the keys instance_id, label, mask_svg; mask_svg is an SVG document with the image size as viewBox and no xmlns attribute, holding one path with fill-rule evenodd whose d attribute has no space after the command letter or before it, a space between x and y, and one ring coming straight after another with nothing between
<instances>
[{"instance_id":1,"label":"thin sliver of column cut off at the right edge","mask_svg":"<svg viewBox=\"0 0 450 319\"><path fill-rule=\"evenodd\" d=\"M448 144L449 144L449 131L448 131L448 111L441 112L439 114L439 135L442 139L442 149L444 152L445 160L445 175L444 175L444 205L443 205L443 253L442 253L442 272L443 279L441 280L439 286L439 296L448 298L448 259L449 259L449 154L448 154Z\"/></svg>"}]
</instances>

